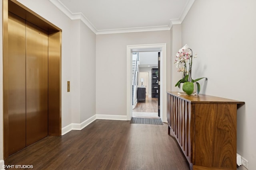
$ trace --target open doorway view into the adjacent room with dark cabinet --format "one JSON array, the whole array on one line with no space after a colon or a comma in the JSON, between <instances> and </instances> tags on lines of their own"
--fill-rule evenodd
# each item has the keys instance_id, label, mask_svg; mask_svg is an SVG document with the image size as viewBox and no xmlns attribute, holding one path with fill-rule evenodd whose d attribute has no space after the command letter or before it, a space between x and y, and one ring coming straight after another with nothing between
<instances>
[{"instance_id":1,"label":"open doorway view into the adjacent room with dark cabinet","mask_svg":"<svg viewBox=\"0 0 256 170\"><path fill-rule=\"evenodd\" d=\"M158 118L158 53L133 53L133 106L132 117ZM137 60L137 61L136 61Z\"/></svg>"}]
</instances>

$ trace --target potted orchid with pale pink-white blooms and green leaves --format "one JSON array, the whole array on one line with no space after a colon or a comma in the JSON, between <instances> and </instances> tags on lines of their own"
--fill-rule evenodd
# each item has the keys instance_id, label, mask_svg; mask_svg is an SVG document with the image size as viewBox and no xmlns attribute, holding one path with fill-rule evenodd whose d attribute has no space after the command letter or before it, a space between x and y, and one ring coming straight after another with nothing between
<instances>
[{"instance_id":1,"label":"potted orchid with pale pink-white blooms and green leaves","mask_svg":"<svg viewBox=\"0 0 256 170\"><path fill-rule=\"evenodd\" d=\"M194 91L194 82L197 85L197 93L200 92L200 84L197 82L206 77L198 78L193 80L191 77L191 69L192 69L192 59L197 58L195 54L193 56L193 51L188 47L188 45L184 45L181 49L179 49L178 53L176 54L175 63L176 67L178 68L178 72L183 72L182 79L180 79L176 84L175 87L180 87L180 83L184 83L182 86L182 90L186 92L186 94L191 95ZM187 70L187 63L188 63L188 70Z\"/></svg>"}]
</instances>

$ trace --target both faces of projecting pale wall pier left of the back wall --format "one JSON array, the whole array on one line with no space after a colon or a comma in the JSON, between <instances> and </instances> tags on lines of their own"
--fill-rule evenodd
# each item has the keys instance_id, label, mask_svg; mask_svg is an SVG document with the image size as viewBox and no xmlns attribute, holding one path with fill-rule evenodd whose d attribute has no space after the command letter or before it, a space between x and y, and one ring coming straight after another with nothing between
<instances>
[{"instance_id":1,"label":"both faces of projecting pale wall pier left of the back wall","mask_svg":"<svg viewBox=\"0 0 256 170\"><path fill-rule=\"evenodd\" d=\"M72 123L82 123L96 114L96 35L81 21L73 21L76 40L72 57Z\"/></svg>"}]
</instances>

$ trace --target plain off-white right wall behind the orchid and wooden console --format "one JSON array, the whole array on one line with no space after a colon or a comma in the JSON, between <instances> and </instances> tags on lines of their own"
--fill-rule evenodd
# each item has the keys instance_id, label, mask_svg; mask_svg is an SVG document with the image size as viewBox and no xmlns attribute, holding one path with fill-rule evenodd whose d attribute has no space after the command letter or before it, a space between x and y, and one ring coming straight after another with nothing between
<instances>
[{"instance_id":1,"label":"plain off-white right wall behind the orchid and wooden console","mask_svg":"<svg viewBox=\"0 0 256 170\"><path fill-rule=\"evenodd\" d=\"M208 77L202 92L245 102L237 113L237 152L249 170L256 169L255 7L255 0L196 0L182 23L182 45L198 53L192 77Z\"/></svg>"}]
</instances>

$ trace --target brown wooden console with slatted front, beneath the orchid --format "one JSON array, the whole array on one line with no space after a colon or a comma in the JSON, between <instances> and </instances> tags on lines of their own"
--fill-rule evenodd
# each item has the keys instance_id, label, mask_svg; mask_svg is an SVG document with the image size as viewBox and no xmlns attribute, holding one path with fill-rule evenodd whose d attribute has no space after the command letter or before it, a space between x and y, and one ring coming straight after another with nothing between
<instances>
[{"instance_id":1,"label":"brown wooden console with slatted front, beneath the orchid","mask_svg":"<svg viewBox=\"0 0 256 170\"><path fill-rule=\"evenodd\" d=\"M236 170L236 113L243 104L167 92L168 134L172 131L191 170Z\"/></svg>"}]
</instances>

